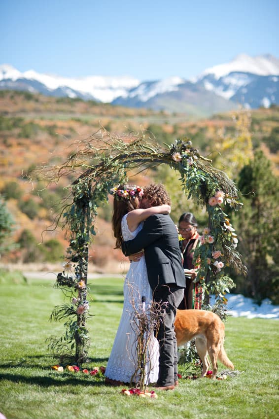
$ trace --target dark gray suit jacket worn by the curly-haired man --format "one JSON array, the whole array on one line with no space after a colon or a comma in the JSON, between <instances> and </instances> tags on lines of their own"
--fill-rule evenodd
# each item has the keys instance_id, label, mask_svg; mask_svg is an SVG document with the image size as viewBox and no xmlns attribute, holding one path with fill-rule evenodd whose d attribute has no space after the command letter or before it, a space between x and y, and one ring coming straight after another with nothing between
<instances>
[{"instance_id":1,"label":"dark gray suit jacket worn by the curly-haired man","mask_svg":"<svg viewBox=\"0 0 279 419\"><path fill-rule=\"evenodd\" d=\"M144 249L144 257L150 286L173 284L185 287L178 234L169 215L151 215L144 221L142 230L133 240L123 242L126 256Z\"/></svg>"}]
</instances>

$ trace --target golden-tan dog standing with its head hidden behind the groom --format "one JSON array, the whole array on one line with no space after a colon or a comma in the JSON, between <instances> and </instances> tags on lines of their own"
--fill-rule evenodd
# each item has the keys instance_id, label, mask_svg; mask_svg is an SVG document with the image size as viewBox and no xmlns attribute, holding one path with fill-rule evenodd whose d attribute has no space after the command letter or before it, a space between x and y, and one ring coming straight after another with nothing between
<instances>
[{"instance_id":1,"label":"golden-tan dog standing with its head hidden behind the groom","mask_svg":"<svg viewBox=\"0 0 279 419\"><path fill-rule=\"evenodd\" d=\"M234 369L224 349L225 326L220 317L206 310L177 310L174 322L177 348L196 338L196 349L203 362L201 377L209 370L209 358L212 364L212 378L216 378L217 359L226 367Z\"/></svg>"}]
</instances>

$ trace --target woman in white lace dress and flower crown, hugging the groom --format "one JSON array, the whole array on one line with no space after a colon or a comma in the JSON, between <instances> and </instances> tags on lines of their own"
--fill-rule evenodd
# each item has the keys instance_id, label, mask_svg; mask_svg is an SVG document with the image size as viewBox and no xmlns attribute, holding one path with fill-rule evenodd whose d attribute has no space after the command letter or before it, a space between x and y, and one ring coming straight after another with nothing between
<instances>
[{"instance_id":1,"label":"woman in white lace dress and flower crown, hugging the groom","mask_svg":"<svg viewBox=\"0 0 279 419\"><path fill-rule=\"evenodd\" d=\"M140 209L143 190L137 186L119 185L111 189L114 196L112 228L116 238L115 248L121 248L123 241L134 239L142 228L143 221L153 214L169 214L171 207L161 205ZM107 384L130 383L137 369L137 342L133 328L133 311L140 308L142 296L146 307L152 301L152 290L148 282L143 252L135 255L124 282L123 312L114 339L113 347L105 369ZM159 372L159 344L152 336L148 348L149 361L146 365L146 383L156 383Z\"/></svg>"}]
</instances>

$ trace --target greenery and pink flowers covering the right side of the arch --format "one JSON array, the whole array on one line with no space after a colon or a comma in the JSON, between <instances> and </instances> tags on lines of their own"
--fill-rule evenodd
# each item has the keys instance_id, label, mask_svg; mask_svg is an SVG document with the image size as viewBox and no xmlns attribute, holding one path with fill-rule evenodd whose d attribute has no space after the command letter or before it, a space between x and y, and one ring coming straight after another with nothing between
<instances>
[{"instance_id":1,"label":"greenery and pink flowers covering the right side of the arch","mask_svg":"<svg viewBox=\"0 0 279 419\"><path fill-rule=\"evenodd\" d=\"M198 268L194 281L201 283L208 301L209 293L212 293L222 305L226 302L225 293L235 286L225 274L226 266L232 266L243 274L246 272L236 250L237 234L223 210L225 205L234 210L241 208L238 191L223 172L218 172L207 163L209 159L200 156L191 140L176 140L170 146L170 154L174 168L181 174L182 185L189 193L188 197L205 205L209 213L209 227L204 229L199 238L201 245L194 250L195 266Z\"/></svg>"}]
</instances>

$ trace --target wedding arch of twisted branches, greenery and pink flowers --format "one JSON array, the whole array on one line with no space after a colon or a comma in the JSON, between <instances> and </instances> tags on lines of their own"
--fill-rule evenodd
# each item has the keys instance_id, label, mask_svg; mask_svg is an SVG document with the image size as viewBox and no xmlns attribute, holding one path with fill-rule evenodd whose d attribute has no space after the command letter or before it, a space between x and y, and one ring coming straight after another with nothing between
<instances>
[{"instance_id":1,"label":"wedding arch of twisted branches, greenery and pink flowers","mask_svg":"<svg viewBox=\"0 0 279 419\"><path fill-rule=\"evenodd\" d=\"M234 286L224 271L226 266L245 272L237 247L237 234L224 212L225 205L238 210L241 203L238 190L228 176L214 168L191 140L182 138L162 146L147 133L124 138L112 136L105 129L86 140L76 141L74 149L60 166L44 166L40 173L50 181L61 177L75 178L70 182L70 203L60 214L63 228L70 237L63 272L57 275L56 286L69 298L56 306L54 320L64 320L65 335L49 338L49 349L62 358L74 357L81 365L87 359L90 338L87 330L89 314L87 267L88 249L96 235L95 219L98 207L108 199L115 185L128 181L128 174L167 164L180 175L181 193L198 205L206 207L208 227L201 236L201 245L194 258L199 265L197 280L201 282L207 301L209 294L224 301L224 294Z\"/></svg>"}]
</instances>

